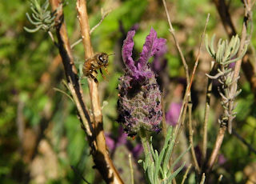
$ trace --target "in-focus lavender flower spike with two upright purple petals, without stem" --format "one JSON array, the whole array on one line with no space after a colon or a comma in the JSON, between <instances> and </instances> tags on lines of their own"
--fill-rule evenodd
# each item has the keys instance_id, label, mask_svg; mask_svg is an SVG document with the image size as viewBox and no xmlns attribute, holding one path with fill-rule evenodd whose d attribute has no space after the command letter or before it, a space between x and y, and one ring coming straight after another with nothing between
<instances>
[{"instance_id":1,"label":"in-focus lavender flower spike with two upright purple petals, without stem","mask_svg":"<svg viewBox=\"0 0 256 184\"><path fill-rule=\"evenodd\" d=\"M158 38L156 31L151 28L140 58L134 61L131 58L134 34L134 30L129 31L123 42L122 58L126 69L125 75L119 78L118 85L117 122L124 124L124 131L130 137L136 135L140 129L161 131L159 127L162 121L161 91L148 61L166 43L166 39Z\"/></svg>"}]
</instances>

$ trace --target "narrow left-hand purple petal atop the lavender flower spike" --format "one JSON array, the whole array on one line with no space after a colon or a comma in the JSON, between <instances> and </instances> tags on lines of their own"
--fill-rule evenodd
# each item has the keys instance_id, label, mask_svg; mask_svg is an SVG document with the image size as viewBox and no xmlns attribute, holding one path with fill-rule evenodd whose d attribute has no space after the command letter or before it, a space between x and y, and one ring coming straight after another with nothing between
<instances>
[{"instance_id":1,"label":"narrow left-hand purple petal atop the lavender flower spike","mask_svg":"<svg viewBox=\"0 0 256 184\"><path fill-rule=\"evenodd\" d=\"M123 41L122 46L122 59L123 62L126 64L126 67L131 70L133 73L136 73L138 70L134 66L134 59L131 58L133 54L133 48L134 48L134 34L135 30L130 30L127 34L127 37L125 41Z\"/></svg>"}]
</instances>

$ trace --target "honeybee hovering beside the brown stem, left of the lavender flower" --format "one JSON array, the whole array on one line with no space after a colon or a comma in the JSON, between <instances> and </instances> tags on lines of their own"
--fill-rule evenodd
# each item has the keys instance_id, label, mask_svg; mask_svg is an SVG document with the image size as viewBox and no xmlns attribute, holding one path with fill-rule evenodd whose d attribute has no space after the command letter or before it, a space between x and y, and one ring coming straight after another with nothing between
<instances>
[{"instance_id":1,"label":"honeybee hovering beside the brown stem, left of the lavender flower","mask_svg":"<svg viewBox=\"0 0 256 184\"><path fill-rule=\"evenodd\" d=\"M108 80L105 78L104 74L102 73L102 67L104 66L106 70L106 74L109 74L109 72L106 69L106 66L108 64L109 64L109 55L106 53L97 52L92 57L86 59L85 63L82 66L82 73L86 77L90 77L94 79L94 82L96 82L98 85L98 80L93 75L93 73L95 72L96 74L98 74L97 70L99 69L99 71L102 74L102 77L108 82Z\"/></svg>"}]
</instances>

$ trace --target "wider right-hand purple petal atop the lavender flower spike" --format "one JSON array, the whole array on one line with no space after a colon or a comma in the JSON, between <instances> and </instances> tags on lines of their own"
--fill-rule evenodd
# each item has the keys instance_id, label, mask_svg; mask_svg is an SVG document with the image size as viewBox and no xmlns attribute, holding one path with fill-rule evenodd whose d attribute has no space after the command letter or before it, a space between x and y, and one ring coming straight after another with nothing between
<instances>
[{"instance_id":1,"label":"wider right-hand purple petal atop the lavender flower spike","mask_svg":"<svg viewBox=\"0 0 256 184\"><path fill-rule=\"evenodd\" d=\"M150 34L146 37L142 53L138 59L138 70L144 70L149 59L165 45L166 39L158 38L157 32L151 27Z\"/></svg>"}]
</instances>

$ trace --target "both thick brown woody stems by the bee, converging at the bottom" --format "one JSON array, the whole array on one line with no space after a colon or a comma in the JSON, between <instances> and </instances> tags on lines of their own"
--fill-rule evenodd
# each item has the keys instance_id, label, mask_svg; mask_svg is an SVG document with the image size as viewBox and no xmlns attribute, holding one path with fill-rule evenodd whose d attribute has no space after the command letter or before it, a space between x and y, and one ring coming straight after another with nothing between
<instances>
[{"instance_id":1,"label":"both thick brown woody stems by the bee, converging at the bottom","mask_svg":"<svg viewBox=\"0 0 256 184\"><path fill-rule=\"evenodd\" d=\"M90 116L85 102L83 101L83 91L78 80L77 70L74 67L73 57L70 50L70 42L64 22L62 12L62 2L60 0L50 0L52 10L57 10L56 14L56 34L58 38L58 49L62 56L62 62L65 69L67 87L70 90L75 105L78 108L78 116L82 122L82 129L85 130L88 138L91 153L94 158L95 168L102 174L106 183L123 183L110 160L106 147L105 136L102 126L102 111L98 98L98 89L95 82L88 79L90 86L90 97L92 103L93 117ZM93 52L90 43L90 27L86 12L86 2L84 0L77 2L78 18L81 26L82 41L85 48L85 58L89 58ZM92 123L93 122L93 123Z\"/></svg>"}]
</instances>

